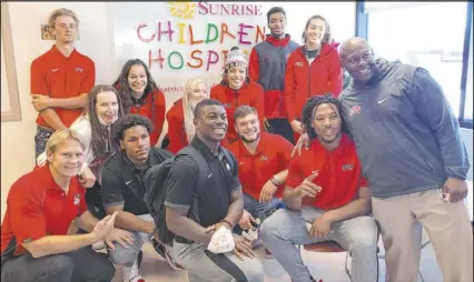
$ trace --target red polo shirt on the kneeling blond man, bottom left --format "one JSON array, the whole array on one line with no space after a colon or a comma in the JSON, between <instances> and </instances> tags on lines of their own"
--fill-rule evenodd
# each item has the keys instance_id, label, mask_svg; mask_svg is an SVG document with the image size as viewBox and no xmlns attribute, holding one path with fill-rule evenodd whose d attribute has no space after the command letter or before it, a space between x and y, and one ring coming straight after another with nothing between
<instances>
[{"instance_id":1,"label":"red polo shirt on the kneeling blond man, bottom left","mask_svg":"<svg viewBox=\"0 0 474 282\"><path fill-rule=\"evenodd\" d=\"M1 253L22 254L21 245L46 235L65 235L86 210L86 189L72 178L68 194L56 184L49 165L24 174L10 188L1 225Z\"/></svg>"}]
</instances>

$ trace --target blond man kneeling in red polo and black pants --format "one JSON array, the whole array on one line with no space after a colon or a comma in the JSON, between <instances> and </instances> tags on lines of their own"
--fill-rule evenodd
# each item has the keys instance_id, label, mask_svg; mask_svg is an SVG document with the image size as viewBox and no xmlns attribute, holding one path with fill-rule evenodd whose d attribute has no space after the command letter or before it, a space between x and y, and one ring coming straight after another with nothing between
<instances>
[{"instance_id":1,"label":"blond man kneeling in red polo and black pants","mask_svg":"<svg viewBox=\"0 0 474 282\"><path fill-rule=\"evenodd\" d=\"M46 144L47 165L22 175L11 187L1 226L2 282L111 281L113 264L90 245L121 241L117 214L100 222L87 210L86 189L77 177L85 143L70 129L53 132ZM80 228L87 234L71 234Z\"/></svg>"}]
</instances>

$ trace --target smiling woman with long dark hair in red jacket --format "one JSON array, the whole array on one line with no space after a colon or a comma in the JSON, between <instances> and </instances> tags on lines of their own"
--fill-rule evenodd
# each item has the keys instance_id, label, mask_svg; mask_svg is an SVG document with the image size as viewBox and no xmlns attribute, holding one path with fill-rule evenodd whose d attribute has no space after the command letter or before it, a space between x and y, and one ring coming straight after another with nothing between
<instances>
[{"instance_id":1,"label":"smiling woman with long dark hair in red jacket","mask_svg":"<svg viewBox=\"0 0 474 282\"><path fill-rule=\"evenodd\" d=\"M165 123L165 94L159 90L150 71L139 59L128 60L118 79L113 82L121 97L127 113L147 117L154 123L150 143L156 145Z\"/></svg>"}]
</instances>

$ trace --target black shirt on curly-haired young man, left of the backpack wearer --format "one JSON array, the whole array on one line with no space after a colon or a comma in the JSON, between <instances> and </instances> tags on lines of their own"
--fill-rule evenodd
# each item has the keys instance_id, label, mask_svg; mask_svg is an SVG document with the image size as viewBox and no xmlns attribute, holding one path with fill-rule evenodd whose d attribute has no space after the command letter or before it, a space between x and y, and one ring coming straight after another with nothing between
<instances>
[{"instance_id":1,"label":"black shirt on curly-haired young man, left of the backpack wearer","mask_svg":"<svg viewBox=\"0 0 474 282\"><path fill-rule=\"evenodd\" d=\"M155 164L159 164L174 154L160 148L150 148L147 163L138 169L121 150L112 155L102 170L102 203L103 207L124 204L124 211L135 215L149 213L145 197L145 172Z\"/></svg>"}]
</instances>

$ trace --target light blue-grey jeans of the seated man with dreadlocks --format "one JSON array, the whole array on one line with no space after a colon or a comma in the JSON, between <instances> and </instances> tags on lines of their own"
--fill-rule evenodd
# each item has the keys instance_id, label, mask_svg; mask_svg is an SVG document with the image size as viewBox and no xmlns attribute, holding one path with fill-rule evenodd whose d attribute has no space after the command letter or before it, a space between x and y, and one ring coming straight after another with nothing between
<instances>
[{"instance_id":1,"label":"light blue-grey jeans of the seated man with dreadlocks","mask_svg":"<svg viewBox=\"0 0 474 282\"><path fill-rule=\"evenodd\" d=\"M306 222L313 223L324 211L305 207L300 210L278 210L260 228L264 245L295 282L308 282L309 271L295 245L336 241L352 255L352 281L377 280L377 239L375 220L357 216L335 222L324 238L309 234Z\"/></svg>"}]
</instances>

